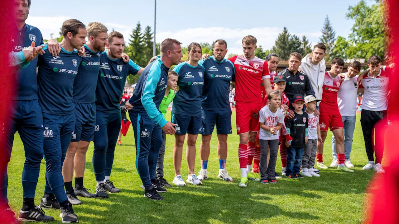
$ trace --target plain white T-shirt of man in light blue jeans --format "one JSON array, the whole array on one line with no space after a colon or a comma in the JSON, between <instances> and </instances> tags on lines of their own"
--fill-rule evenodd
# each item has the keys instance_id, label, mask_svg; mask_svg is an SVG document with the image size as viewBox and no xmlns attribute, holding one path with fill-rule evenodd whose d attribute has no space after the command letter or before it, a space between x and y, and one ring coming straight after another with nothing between
<instances>
[{"instance_id":1,"label":"plain white T-shirt of man in light blue jeans","mask_svg":"<svg viewBox=\"0 0 399 224\"><path fill-rule=\"evenodd\" d=\"M338 90L338 108L340 109L341 116L356 116L356 105L358 99L358 75L349 78L347 73L344 81L341 83L340 89Z\"/></svg>"}]
</instances>

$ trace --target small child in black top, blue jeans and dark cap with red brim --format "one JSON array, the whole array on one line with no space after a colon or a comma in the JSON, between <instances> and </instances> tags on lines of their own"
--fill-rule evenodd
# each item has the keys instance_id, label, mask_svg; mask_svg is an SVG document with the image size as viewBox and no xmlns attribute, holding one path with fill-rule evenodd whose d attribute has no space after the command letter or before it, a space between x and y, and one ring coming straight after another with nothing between
<instances>
[{"instance_id":1,"label":"small child in black top, blue jeans and dark cap with red brim","mask_svg":"<svg viewBox=\"0 0 399 224\"><path fill-rule=\"evenodd\" d=\"M302 161L303 148L308 142L308 114L302 108L305 102L302 94L293 97L294 117L286 121L287 132L292 137L292 142L286 141L287 147L287 171L286 176L290 179L303 178L299 174Z\"/></svg>"}]
</instances>

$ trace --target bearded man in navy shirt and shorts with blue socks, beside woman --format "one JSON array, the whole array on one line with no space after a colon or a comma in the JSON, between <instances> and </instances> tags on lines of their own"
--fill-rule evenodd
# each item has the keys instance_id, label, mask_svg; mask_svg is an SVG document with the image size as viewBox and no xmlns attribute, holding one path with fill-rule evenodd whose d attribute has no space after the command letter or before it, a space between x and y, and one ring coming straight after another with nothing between
<instances>
[{"instance_id":1,"label":"bearded man in navy shirt and shorts with blue socks, beside woman","mask_svg":"<svg viewBox=\"0 0 399 224\"><path fill-rule=\"evenodd\" d=\"M227 135L231 134L231 108L229 102L230 82L234 79L234 65L224 59L227 54L227 43L218 39L213 44L213 56L198 63L205 68L204 85L202 88L202 126L203 133L199 152L201 155L201 170L198 179L208 178L207 163L209 158L209 143L216 124L217 155L219 155L219 177L225 181L233 181L226 171Z\"/></svg>"}]
</instances>

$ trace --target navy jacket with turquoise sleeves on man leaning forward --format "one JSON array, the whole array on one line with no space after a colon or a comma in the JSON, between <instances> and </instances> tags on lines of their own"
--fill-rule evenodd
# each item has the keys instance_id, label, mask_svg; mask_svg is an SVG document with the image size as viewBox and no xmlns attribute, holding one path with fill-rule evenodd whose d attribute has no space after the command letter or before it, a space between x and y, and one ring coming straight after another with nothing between
<instances>
[{"instance_id":1,"label":"navy jacket with turquoise sleeves on man leaning forward","mask_svg":"<svg viewBox=\"0 0 399 224\"><path fill-rule=\"evenodd\" d=\"M144 69L129 100L133 105L132 112L148 114L150 119L161 127L166 124L166 120L158 109L168 85L168 71L169 68L158 56Z\"/></svg>"}]
</instances>

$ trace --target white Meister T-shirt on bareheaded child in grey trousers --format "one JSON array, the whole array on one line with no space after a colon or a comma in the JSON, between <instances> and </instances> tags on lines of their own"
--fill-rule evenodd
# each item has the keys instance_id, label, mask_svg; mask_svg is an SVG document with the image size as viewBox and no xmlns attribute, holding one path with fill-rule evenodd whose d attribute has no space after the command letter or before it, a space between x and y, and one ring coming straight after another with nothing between
<instances>
[{"instance_id":1,"label":"white Meister T-shirt on bareheaded child in grey trousers","mask_svg":"<svg viewBox=\"0 0 399 224\"><path fill-rule=\"evenodd\" d=\"M264 106L259 111L259 123L263 123L266 127L272 128L276 127L277 123L284 124L284 110L281 108L277 108L276 112L271 112L269 109L269 105ZM277 132L279 133L279 132ZM261 140L275 140L279 139L279 134L273 135L271 132L263 130L260 128L259 130L259 139Z\"/></svg>"}]
</instances>

